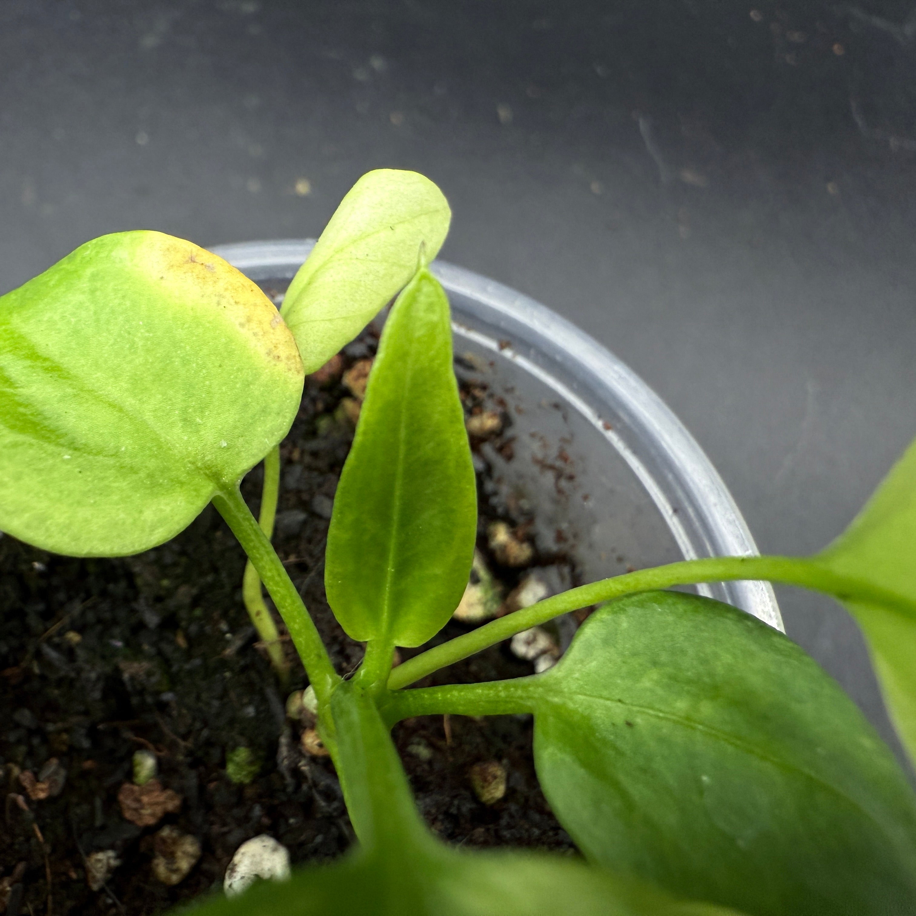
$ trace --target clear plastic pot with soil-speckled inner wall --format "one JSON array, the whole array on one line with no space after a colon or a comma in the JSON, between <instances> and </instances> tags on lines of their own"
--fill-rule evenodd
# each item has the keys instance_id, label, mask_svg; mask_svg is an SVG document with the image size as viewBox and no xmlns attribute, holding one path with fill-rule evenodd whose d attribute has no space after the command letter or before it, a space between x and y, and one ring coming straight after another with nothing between
<instances>
[{"instance_id":1,"label":"clear plastic pot with soil-speckled inner wall","mask_svg":"<svg viewBox=\"0 0 916 916\"><path fill-rule=\"evenodd\" d=\"M285 289L311 240L220 245L258 283ZM453 308L456 366L501 399L511 456L484 447L494 496L534 519L583 582L664 562L756 554L735 501L691 434L614 354L539 302L470 270L433 265ZM697 591L780 630L768 583Z\"/></svg>"}]
</instances>

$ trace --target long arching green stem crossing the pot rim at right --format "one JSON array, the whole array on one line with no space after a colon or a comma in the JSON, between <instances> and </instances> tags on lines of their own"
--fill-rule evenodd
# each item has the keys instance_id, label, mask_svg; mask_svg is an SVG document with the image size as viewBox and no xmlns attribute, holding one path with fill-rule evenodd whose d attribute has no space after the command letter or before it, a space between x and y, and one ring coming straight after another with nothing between
<instances>
[{"instance_id":1,"label":"long arching green stem crossing the pot rim at right","mask_svg":"<svg viewBox=\"0 0 916 916\"><path fill-rule=\"evenodd\" d=\"M523 610L500 617L483 627L465 633L449 642L428 649L399 665L388 678L388 689L398 690L408 686L433 671L439 671L456 661L466 659L482 649L501 642L529 627L546 623L555 616L588 607L624 594L650 592L672 585L702 582L726 582L741 579L764 579L771 582L800 585L803 588L832 594L845 600L853 595L866 602L890 606L907 606L899 595L891 594L867 583L837 575L816 560L797 557L712 557L706 560L687 560L638 570L612 579L602 579L589 585L580 585L568 592L556 594Z\"/></svg>"}]
</instances>

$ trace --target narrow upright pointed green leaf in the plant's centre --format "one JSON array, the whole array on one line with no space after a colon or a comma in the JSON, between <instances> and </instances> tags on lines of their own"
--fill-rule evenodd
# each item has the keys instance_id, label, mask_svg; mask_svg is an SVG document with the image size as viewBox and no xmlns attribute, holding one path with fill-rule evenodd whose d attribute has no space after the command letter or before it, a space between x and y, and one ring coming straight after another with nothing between
<instances>
[{"instance_id":1,"label":"narrow upright pointed green leaf in the plant's centre","mask_svg":"<svg viewBox=\"0 0 916 916\"><path fill-rule=\"evenodd\" d=\"M423 267L398 297L334 497L324 582L354 639L419 646L474 554L476 488L445 293Z\"/></svg>"}]
</instances>

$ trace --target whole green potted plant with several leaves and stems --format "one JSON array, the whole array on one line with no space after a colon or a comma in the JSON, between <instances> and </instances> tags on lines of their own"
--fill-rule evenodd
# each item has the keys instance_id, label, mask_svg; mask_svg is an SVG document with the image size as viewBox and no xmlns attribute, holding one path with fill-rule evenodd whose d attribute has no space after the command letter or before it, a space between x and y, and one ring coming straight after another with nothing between
<instances>
[{"instance_id":1,"label":"whole green potted plant with several leaves and stems","mask_svg":"<svg viewBox=\"0 0 916 916\"><path fill-rule=\"evenodd\" d=\"M144 232L83 245L0 300L0 527L49 551L114 556L168 540L213 501L308 673L358 842L336 864L217 896L200 911L911 912L916 796L889 749L789 639L728 605L665 590L761 579L834 595L865 633L912 755L916 447L813 557L725 557L619 575L393 667L395 649L426 643L458 605L476 505L449 304L427 266L448 210L419 177L373 176L372 191L400 189L404 218L387 221L382 236L412 225L411 259L373 261L366 252L377 251L377 235L354 228L344 208L280 313L220 258ZM397 264L387 285L376 282L383 263ZM305 371L405 283L328 534L328 601L365 642L362 663L344 676L271 547L276 474L265 475L260 525L239 482L289 430ZM257 591L246 573L256 611ZM591 605L600 606L550 671L408 689ZM435 838L389 736L422 714L533 714L541 785L584 861L472 852Z\"/></svg>"}]
</instances>

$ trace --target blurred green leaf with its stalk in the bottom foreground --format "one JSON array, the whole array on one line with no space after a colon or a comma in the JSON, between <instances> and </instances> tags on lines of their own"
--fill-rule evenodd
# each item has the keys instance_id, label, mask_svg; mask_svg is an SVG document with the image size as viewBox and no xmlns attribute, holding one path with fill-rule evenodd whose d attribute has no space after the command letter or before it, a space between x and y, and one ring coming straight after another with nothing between
<instances>
[{"instance_id":1,"label":"blurred green leaf with its stalk in the bottom foreground","mask_svg":"<svg viewBox=\"0 0 916 916\"><path fill-rule=\"evenodd\" d=\"M727 916L676 903L582 862L442 845L420 821L407 776L375 705L355 682L331 701L334 760L361 847L289 883L258 885L200 916ZM734 916L734 914L733 914Z\"/></svg>"}]
</instances>

